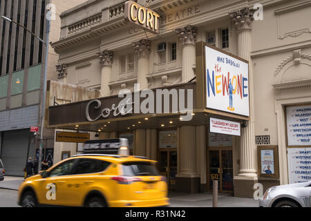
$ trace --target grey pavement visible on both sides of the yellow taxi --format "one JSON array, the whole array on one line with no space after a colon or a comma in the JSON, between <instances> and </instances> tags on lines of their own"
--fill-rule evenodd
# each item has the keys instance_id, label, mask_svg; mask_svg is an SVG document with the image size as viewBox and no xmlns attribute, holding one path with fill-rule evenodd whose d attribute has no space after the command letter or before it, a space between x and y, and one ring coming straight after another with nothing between
<instances>
[{"instance_id":1,"label":"grey pavement visible on both sides of the yellow taxi","mask_svg":"<svg viewBox=\"0 0 311 221\"><path fill-rule=\"evenodd\" d=\"M23 177L8 177L0 182L0 207L17 207L17 190ZM212 207L212 193L176 193L170 192L171 207ZM236 198L230 194L218 194L218 207L258 207L258 200Z\"/></svg>"}]
</instances>

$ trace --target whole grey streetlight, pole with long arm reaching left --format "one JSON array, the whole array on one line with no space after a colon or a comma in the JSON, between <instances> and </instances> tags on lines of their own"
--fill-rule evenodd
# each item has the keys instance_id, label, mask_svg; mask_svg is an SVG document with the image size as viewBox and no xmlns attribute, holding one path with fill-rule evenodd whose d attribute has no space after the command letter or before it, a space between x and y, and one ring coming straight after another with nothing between
<instances>
[{"instance_id":1,"label":"whole grey streetlight, pole with long arm reaching left","mask_svg":"<svg viewBox=\"0 0 311 221\"><path fill-rule=\"evenodd\" d=\"M39 171L41 171L41 155L42 155L42 149L43 149L43 132L44 132L44 115L46 111L46 76L48 74L48 41L49 41L49 34L50 34L50 15L51 12L48 10L48 13L46 15L46 41L39 38L37 35L35 35L33 32L28 30L25 26L22 26L20 23L17 23L16 21L12 21L12 19L9 19L8 17L1 16L0 18L8 21L10 23L15 23L17 26L25 29L27 32L30 32L30 34L37 38L39 41L41 41L43 44L46 45L46 61L44 64L44 88L43 88L43 99L42 99L42 107L41 107L41 128L40 128L40 147L39 147Z\"/></svg>"}]
</instances>

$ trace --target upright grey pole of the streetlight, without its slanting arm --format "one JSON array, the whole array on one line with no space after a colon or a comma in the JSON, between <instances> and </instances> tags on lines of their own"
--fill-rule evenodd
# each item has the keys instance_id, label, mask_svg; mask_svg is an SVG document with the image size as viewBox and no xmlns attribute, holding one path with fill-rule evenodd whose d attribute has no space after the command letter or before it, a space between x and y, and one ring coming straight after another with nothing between
<instances>
[{"instance_id":1,"label":"upright grey pole of the streetlight, without its slanting arm","mask_svg":"<svg viewBox=\"0 0 311 221\"><path fill-rule=\"evenodd\" d=\"M43 133L44 133L44 116L46 112L46 78L48 75L48 46L49 46L49 34L50 34L50 12L47 14L46 18L46 61L44 64L44 88L43 88L43 97L42 97L42 106L41 106L41 128L40 128L40 144L39 144L39 171L41 171L41 162L42 162L42 149L43 149Z\"/></svg>"}]
</instances>

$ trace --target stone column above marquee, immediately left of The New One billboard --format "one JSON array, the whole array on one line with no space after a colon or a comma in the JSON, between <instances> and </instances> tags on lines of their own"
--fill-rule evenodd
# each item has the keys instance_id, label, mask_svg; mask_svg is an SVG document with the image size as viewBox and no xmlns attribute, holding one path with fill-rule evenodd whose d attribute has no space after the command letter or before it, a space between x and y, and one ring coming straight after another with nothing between
<instances>
[{"instance_id":1,"label":"stone column above marquee, immediately left of The New One billboard","mask_svg":"<svg viewBox=\"0 0 311 221\"><path fill-rule=\"evenodd\" d=\"M186 26L175 30L182 44L182 83L195 77L197 28Z\"/></svg>"}]
</instances>

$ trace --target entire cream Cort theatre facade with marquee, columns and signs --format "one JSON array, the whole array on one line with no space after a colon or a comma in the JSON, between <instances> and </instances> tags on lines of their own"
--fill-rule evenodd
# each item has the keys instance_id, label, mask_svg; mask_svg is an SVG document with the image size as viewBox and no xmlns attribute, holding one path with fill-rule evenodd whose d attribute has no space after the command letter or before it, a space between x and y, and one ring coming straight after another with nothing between
<instances>
[{"instance_id":1,"label":"entire cream Cort theatre facade with marquee, columns and signs","mask_svg":"<svg viewBox=\"0 0 311 221\"><path fill-rule=\"evenodd\" d=\"M61 15L55 162L127 138L173 191L310 180L309 1L92 0ZM309 131L309 132L308 132Z\"/></svg>"}]
</instances>

